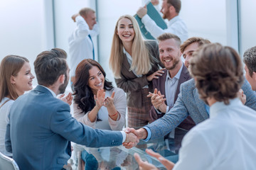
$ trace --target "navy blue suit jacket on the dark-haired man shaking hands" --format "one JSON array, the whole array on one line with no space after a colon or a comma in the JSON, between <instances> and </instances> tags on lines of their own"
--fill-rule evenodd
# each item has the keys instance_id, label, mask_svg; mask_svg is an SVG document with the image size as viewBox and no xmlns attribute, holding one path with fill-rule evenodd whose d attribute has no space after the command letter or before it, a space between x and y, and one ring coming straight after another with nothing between
<instances>
[{"instance_id":1,"label":"navy blue suit jacket on the dark-haired man shaking hands","mask_svg":"<svg viewBox=\"0 0 256 170\"><path fill-rule=\"evenodd\" d=\"M87 147L122 145L122 133L94 130L70 114L70 106L37 86L14 101L6 129L6 150L22 169L62 169L70 142Z\"/></svg>"}]
</instances>

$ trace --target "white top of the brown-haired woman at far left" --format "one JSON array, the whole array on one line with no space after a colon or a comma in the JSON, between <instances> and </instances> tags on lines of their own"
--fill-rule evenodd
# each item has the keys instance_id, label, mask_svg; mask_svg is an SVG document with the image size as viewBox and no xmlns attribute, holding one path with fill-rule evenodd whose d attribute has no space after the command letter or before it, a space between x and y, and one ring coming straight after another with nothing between
<instances>
[{"instance_id":1,"label":"white top of the brown-haired woman at far left","mask_svg":"<svg viewBox=\"0 0 256 170\"><path fill-rule=\"evenodd\" d=\"M9 100L9 98L3 98L3 100L0 102L0 106ZM2 154L5 154L6 156L12 156L11 153L7 152L5 149L5 134L6 134L6 125L9 123L9 113L11 105L14 103L14 100L7 101L4 103L3 106L0 108L0 152Z\"/></svg>"}]
</instances>

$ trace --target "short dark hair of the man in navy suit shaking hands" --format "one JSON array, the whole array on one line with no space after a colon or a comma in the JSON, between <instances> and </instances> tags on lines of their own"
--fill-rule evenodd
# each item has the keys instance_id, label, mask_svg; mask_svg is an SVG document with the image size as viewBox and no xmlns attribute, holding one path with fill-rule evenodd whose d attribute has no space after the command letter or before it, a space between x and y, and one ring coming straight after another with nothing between
<instances>
[{"instance_id":1,"label":"short dark hair of the man in navy suit shaking hands","mask_svg":"<svg viewBox=\"0 0 256 170\"><path fill-rule=\"evenodd\" d=\"M61 74L66 76L68 70L66 58L66 52L58 48L41 52L34 62L38 84L50 86L57 81Z\"/></svg>"}]
</instances>

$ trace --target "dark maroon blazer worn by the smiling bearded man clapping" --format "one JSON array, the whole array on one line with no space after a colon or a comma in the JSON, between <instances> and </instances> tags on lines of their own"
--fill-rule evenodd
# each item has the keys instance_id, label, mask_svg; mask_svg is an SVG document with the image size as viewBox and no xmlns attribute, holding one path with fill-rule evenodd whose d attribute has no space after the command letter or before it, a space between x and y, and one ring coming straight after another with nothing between
<instances>
[{"instance_id":1,"label":"dark maroon blazer worn by the smiling bearded man clapping","mask_svg":"<svg viewBox=\"0 0 256 170\"><path fill-rule=\"evenodd\" d=\"M159 77L159 79L153 79L153 81L152 81L153 82L153 89L157 89L157 90L161 91L161 94L163 94L164 96L166 96L165 81L166 81L167 72L168 72L167 69L164 70L164 74L161 77ZM180 90L181 84L183 84L183 82L185 82L185 81L188 81L189 79L191 79L191 76L188 72L188 69L185 67L185 64L183 64L183 67L182 67L182 70L181 70L181 77L180 77L180 79L178 79L177 89L176 89L176 91L173 91L173 93L175 93L174 103L178 98L178 94L180 92L179 90ZM167 105L166 101L165 101L165 103ZM169 107L169 110L171 110L171 107ZM154 106L151 106L151 110L149 111L149 115L150 115L150 118L151 118L150 123L154 122L154 120L157 120L157 119L163 117L164 114L165 113L161 113L161 114L156 113L156 110L155 110ZM196 125L196 124L193 122L192 118L190 116L188 116L188 118L183 120L183 122L180 125L178 125L178 127L186 129L186 130L190 130L191 128L193 128L194 125Z\"/></svg>"}]
</instances>

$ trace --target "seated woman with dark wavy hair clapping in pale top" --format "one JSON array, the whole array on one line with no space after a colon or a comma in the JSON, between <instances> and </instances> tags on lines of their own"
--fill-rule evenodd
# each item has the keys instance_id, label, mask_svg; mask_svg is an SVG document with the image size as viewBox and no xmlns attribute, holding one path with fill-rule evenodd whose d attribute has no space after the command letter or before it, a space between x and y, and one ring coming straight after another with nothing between
<instances>
[{"instance_id":1,"label":"seated woman with dark wavy hair clapping in pale top","mask_svg":"<svg viewBox=\"0 0 256 170\"><path fill-rule=\"evenodd\" d=\"M74 117L92 128L122 130L125 123L126 97L124 91L112 86L95 60L78 64L74 82Z\"/></svg>"}]
</instances>

